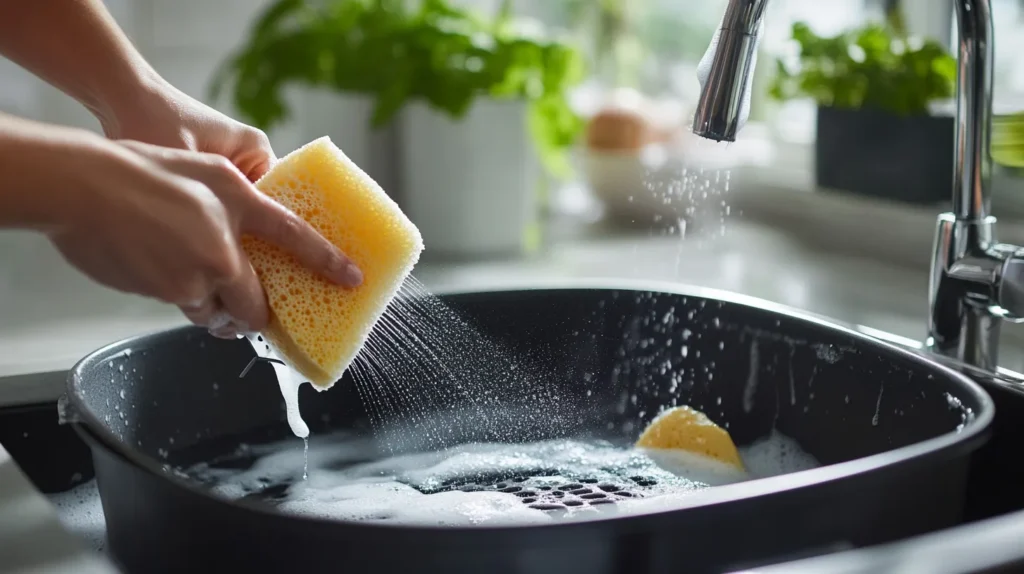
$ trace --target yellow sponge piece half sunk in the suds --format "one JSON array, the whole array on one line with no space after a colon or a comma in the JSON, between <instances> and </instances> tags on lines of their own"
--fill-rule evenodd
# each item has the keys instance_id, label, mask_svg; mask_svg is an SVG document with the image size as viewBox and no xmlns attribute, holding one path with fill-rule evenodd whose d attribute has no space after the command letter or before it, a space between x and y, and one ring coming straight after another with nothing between
<instances>
[{"instance_id":1,"label":"yellow sponge piece half sunk in the suds","mask_svg":"<svg viewBox=\"0 0 1024 574\"><path fill-rule=\"evenodd\" d=\"M670 408L658 414L637 439L636 446L684 450L715 458L736 469L743 468L743 461L729 433L705 413L688 406Z\"/></svg>"}]
</instances>

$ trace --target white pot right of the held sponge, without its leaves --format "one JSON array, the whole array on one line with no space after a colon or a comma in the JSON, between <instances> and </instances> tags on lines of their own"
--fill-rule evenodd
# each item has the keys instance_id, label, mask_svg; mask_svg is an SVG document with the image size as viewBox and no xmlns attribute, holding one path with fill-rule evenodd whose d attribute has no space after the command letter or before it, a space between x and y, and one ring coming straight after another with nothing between
<instances>
[{"instance_id":1,"label":"white pot right of the held sponge, without its leaves","mask_svg":"<svg viewBox=\"0 0 1024 574\"><path fill-rule=\"evenodd\" d=\"M422 103L401 118L403 209L424 257L518 255L536 237L540 163L522 102L481 100L455 122Z\"/></svg>"}]
</instances>

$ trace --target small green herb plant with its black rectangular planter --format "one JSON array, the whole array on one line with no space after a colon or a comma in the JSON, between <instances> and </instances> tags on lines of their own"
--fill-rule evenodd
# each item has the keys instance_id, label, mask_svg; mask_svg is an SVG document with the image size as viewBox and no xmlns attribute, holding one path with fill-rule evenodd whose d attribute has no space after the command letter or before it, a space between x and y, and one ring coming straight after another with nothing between
<instances>
[{"instance_id":1,"label":"small green herb plant with its black rectangular planter","mask_svg":"<svg viewBox=\"0 0 1024 574\"><path fill-rule=\"evenodd\" d=\"M793 27L799 65L781 59L770 94L817 103L819 187L916 204L948 201L954 124L931 106L954 93L955 59L907 36L899 6L881 24L822 38Z\"/></svg>"}]
</instances>

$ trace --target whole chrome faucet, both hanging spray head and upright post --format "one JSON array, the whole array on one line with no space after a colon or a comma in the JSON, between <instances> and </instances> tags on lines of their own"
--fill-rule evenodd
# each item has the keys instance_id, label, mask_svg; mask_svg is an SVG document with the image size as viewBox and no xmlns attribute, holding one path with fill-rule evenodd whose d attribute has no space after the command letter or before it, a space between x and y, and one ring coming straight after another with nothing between
<instances>
[{"instance_id":1,"label":"whole chrome faucet, both hanging spray head and upright post","mask_svg":"<svg viewBox=\"0 0 1024 574\"><path fill-rule=\"evenodd\" d=\"M698 67L693 133L734 141L746 120L768 0L729 0ZM999 327L1024 317L1024 248L998 244L989 213L992 115L990 0L955 0L958 29L952 211L939 215L926 348L994 371Z\"/></svg>"}]
</instances>

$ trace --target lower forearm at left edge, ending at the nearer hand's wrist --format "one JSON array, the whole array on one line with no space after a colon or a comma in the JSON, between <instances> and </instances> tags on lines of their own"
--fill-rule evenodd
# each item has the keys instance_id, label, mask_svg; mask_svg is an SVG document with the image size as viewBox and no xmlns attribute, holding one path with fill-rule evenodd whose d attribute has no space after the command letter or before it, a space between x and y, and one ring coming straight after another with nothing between
<instances>
[{"instance_id":1,"label":"lower forearm at left edge, ending at the nearer hand's wrist","mask_svg":"<svg viewBox=\"0 0 1024 574\"><path fill-rule=\"evenodd\" d=\"M81 192L86 168L96 169L116 149L85 130L0 114L0 228L65 227L90 209Z\"/></svg>"}]
</instances>

